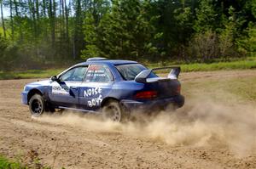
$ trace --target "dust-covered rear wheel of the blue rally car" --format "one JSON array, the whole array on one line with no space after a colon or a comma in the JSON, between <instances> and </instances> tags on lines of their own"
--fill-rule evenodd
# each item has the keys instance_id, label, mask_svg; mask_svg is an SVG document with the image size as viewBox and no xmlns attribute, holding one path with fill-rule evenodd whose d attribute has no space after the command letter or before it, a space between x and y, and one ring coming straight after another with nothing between
<instances>
[{"instance_id":1,"label":"dust-covered rear wheel of the blue rally car","mask_svg":"<svg viewBox=\"0 0 256 169\"><path fill-rule=\"evenodd\" d=\"M110 100L107 104L103 106L102 114L104 119L108 119L111 121L123 121L124 120L124 112L121 108L120 104L116 100Z\"/></svg>"}]
</instances>

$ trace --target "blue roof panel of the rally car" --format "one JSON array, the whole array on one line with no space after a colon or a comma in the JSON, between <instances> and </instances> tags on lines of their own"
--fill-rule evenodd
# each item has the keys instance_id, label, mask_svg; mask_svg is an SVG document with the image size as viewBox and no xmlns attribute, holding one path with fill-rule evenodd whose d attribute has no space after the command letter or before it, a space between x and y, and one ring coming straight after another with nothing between
<instances>
[{"instance_id":1,"label":"blue roof panel of the rally car","mask_svg":"<svg viewBox=\"0 0 256 169\"><path fill-rule=\"evenodd\" d=\"M99 59L99 60L82 62L75 66L90 65L90 64L125 65L125 64L137 64L137 62L131 61L131 60L123 60L123 59Z\"/></svg>"}]
</instances>

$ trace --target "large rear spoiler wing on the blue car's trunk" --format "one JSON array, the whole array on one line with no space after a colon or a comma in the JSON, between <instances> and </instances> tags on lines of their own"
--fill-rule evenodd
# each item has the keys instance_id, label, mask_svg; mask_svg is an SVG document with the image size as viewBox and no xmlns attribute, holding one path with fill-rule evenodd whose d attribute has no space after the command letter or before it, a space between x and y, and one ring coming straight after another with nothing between
<instances>
[{"instance_id":1,"label":"large rear spoiler wing on the blue car's trunk","mask_svg":"<svg viewBox=\"0 0 256 169\"><path fill-rule=\"evenodd\" d=\"M166 70L166 69L171 69L170 73L168 74L166 79L177 79L179 76L179 73L181 71L180 66L171 66L171 67L159 67L159 68L154 68L152 70L143 70L140 72L136 77L135 81L136 82L143 82L147 83L147 78L150 75L150 73L154 70Z\"/></svg>"}]
</instances>

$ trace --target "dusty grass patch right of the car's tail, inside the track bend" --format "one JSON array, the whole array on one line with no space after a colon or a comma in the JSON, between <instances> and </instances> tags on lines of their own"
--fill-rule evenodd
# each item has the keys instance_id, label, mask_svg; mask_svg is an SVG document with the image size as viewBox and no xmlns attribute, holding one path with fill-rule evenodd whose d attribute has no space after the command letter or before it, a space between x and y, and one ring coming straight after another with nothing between
<instances>
[{"instance_id":1,"label":"dusty grass patch right of the car's tail, inside the track bend","mask_svg":"<svg viewBox=\"0 0 256 169\"><path fill-rule=\"evenodd\" d=\"M182 92L204 96L224 103L256 103L256 76L227 76L225 78L199 78L182 82Z\"/></svg>"}]
</instances>

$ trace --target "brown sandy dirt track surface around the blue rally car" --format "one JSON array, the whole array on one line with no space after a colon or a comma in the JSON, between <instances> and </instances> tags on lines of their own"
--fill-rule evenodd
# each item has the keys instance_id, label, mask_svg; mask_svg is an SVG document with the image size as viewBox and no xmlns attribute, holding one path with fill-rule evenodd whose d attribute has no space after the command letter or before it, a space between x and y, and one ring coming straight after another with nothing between
<instances>
[{"instance_id":1,"label":"brown sandy dirt track surface around the blue rally car","mask_svg":"<svg viewBox=\"0 0 256 169\"><path fill-rule=\"evenodd\" d=\"M184 73L180 78L186 87L241 76L255 77L256 71ZM32 118L20 104L20 92L34 81L0 81L0 154L32 168L256 168L253 104L225 105L192 94L183 109L140 122L117 124L72 112Z\"/></svg>"}]
</instances>

